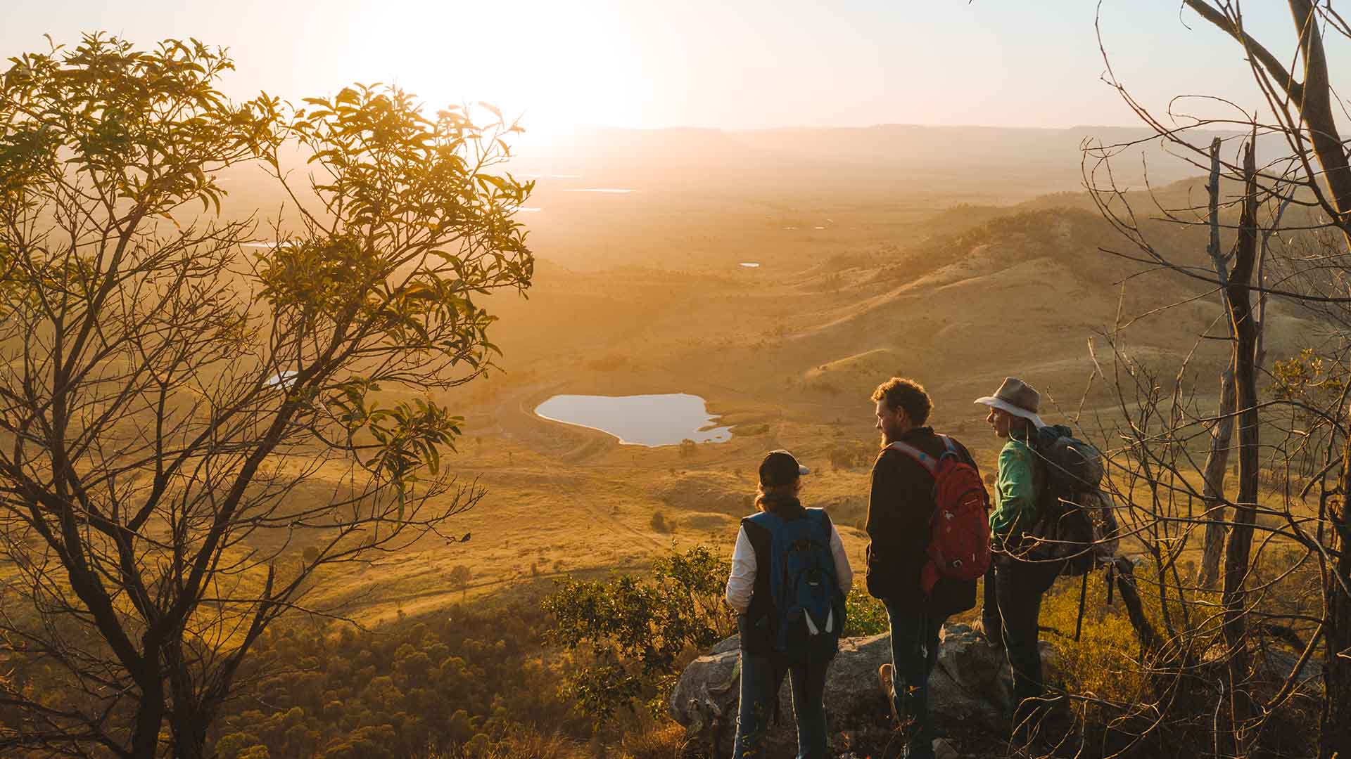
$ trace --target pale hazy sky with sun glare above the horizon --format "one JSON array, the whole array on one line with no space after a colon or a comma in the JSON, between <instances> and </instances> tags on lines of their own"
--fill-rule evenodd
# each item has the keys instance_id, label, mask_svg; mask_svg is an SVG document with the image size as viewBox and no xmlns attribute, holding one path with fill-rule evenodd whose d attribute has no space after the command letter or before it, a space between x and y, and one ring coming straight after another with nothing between
<instances>
[{"instance_id":1,"label":"pale hazy sky with sun glare above the horizon","mask_svg":"<svg viewBox=\"0 0 1351 759\"><path fill-rule=\"evenodd\" d=\"M536 134L571 126L1136 124L1100 81L1094 0L7 0L0 55L107 30L227 46L234 97L394 81L489 100ZM1285 3L1250 1L1293 49ZM1190 28L1189 28L1190 27ZM1105 0L1117 76L1150 107L1256 107L1242 50L1179 0ZM1333 51L1335 63L1346 61Z\"/></svg>"}]
</instances>

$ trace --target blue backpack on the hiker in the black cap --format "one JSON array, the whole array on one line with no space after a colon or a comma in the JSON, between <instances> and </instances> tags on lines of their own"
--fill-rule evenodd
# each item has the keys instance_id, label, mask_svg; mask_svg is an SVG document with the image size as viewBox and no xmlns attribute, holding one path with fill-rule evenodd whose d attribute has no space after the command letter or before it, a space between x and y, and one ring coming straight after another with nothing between
<instances>
[{"instance_id":1,"label":"blue backpack on the hiker in the black cap","mask_svg":"<svg viewBox=\"0 0 1351 759\"><path fill-rule=\"evenodd\" d=\"M775 651L794 662L834 656L844 627L830 548L830 517L823 509L805 512L793 520L770 512L747 517L769 529L771 536L767 570L774 612L770 640Z\"/></svg>"}]
</instances>

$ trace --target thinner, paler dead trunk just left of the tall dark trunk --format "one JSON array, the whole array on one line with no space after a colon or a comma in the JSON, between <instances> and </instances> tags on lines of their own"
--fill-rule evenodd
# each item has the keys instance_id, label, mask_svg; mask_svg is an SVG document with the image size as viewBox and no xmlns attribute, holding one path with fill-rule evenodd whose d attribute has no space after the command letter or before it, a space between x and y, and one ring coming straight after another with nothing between
<instances>
[{"instance_id":1,"label":"thinner, paler dead trunk just left of the tall dark trunk","mask_svg":"<svg viewBox=\"0 0 1351 759\"><path fill-rule=\"evenodd\" d=\"M1206 189L1210 194L1210 243L1206 253L1215 265L1215 274L1220 286L1228 284L1228 265L1220 253L1220 138L1210 142L1210 184ZM1224 303L1224 290L1220 292ZM1228 305L1225 304L1225 308ZM1229 338L1233 338L1233 324L1229 321ZM1220 574L1220 552L1224 547L1224 474L1229 466L1229 443L1233 440L1233 365L1225 367L1220 375L1220 408L1216 412L1216 423L1210 427L1210 452L1205 456L1205 489L1202 501L1205 504L1205 543L1201 550L1201 587L1215 587L1215 581Z\"/></svg>"}]
</instances>

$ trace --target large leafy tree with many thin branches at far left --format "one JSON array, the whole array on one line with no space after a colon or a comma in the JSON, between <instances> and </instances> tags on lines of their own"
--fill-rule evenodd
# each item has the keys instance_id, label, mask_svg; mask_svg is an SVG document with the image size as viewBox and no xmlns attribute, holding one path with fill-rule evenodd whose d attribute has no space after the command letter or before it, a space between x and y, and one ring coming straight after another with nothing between
<instances>
[{"instance_id":1,"label":"large leafy tree with many thin branches at far left","mask_svg":"<svg viewBox=\"0 0 1351 759\"><path fill-rule=\"evenodd\" d=\"M481 496L438 392L493 366L482 296L531 284L515 124L385 86L235 104L231 68L86 35L0 84L7 755L201 756L324 567L454 542ZM270 228L222 213L249 166Z\"/></svg>"}]
</instances>

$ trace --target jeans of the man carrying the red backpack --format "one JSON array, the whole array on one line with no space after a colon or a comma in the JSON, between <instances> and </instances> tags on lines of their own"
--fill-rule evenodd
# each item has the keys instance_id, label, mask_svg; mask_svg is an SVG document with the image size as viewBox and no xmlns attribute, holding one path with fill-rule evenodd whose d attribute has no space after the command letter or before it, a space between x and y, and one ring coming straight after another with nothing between
<instances>
[{"instance_id":1,"label":"jeans of the man carrying the red backpack","mask_svg":"<svg viewBox=\"0 0 1351 759\"><path fill-rule=\"evenodd\" d=\"M928 710L928 678L938 663L938 633L947 617L924 605L902 608L886 601L892 623L892 663L896 667L896 713L913 720L905 739L907 759L932 759L934 717Z\"/></svg>"}]
</instances>

